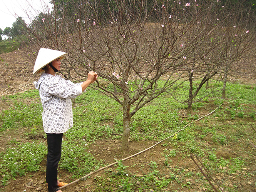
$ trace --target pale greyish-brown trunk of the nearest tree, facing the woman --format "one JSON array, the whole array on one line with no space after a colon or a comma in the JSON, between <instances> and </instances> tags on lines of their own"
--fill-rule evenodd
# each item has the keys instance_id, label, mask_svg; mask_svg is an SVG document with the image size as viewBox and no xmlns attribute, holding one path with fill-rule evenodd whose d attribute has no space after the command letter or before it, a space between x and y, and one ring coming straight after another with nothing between
<instances>
[{"instance_id":1,"label":"pale greyish-brown trunk of the nearest tree, facing the woman","mask_svg":"<svg viewBox=\"0 0 256 192\"><path fill-rule=\"evenodd\" d=\"M124 96L124 103L123 103L123 124L124 124L124 130L123 130L123 138L122 138L122 150L129 150L129 142L128 137L130 134L130 104L128 102L128 97Z\"/></svg>"}]
</instances>

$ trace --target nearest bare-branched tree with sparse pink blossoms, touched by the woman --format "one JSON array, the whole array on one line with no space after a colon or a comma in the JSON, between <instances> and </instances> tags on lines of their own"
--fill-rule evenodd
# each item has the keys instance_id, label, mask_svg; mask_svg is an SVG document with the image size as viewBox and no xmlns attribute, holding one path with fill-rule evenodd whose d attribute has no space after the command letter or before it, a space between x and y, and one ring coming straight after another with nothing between
<instances>
[{"instance_id":1,"label":"nearest bare-branched tree with sparse pink blossoms, touched by the woman","mask_svg":"<svg viewBox=\"0 0 256 192\"><path fill-rule=\"evenodd\" d=\"M190 85L192 104L202 85L231 60L223 57L223 22L216 16L227 10L212 1L69 1L72 6L61 9L53 3L47 19L28 29L27 47L35 57L40 47L67 52L62 73L69 79L98 73L92 86L122 106L125 150L139 109L186 80L193 83L197 73L202 80L194 93Z\"/></svg>"}]
</instances>

